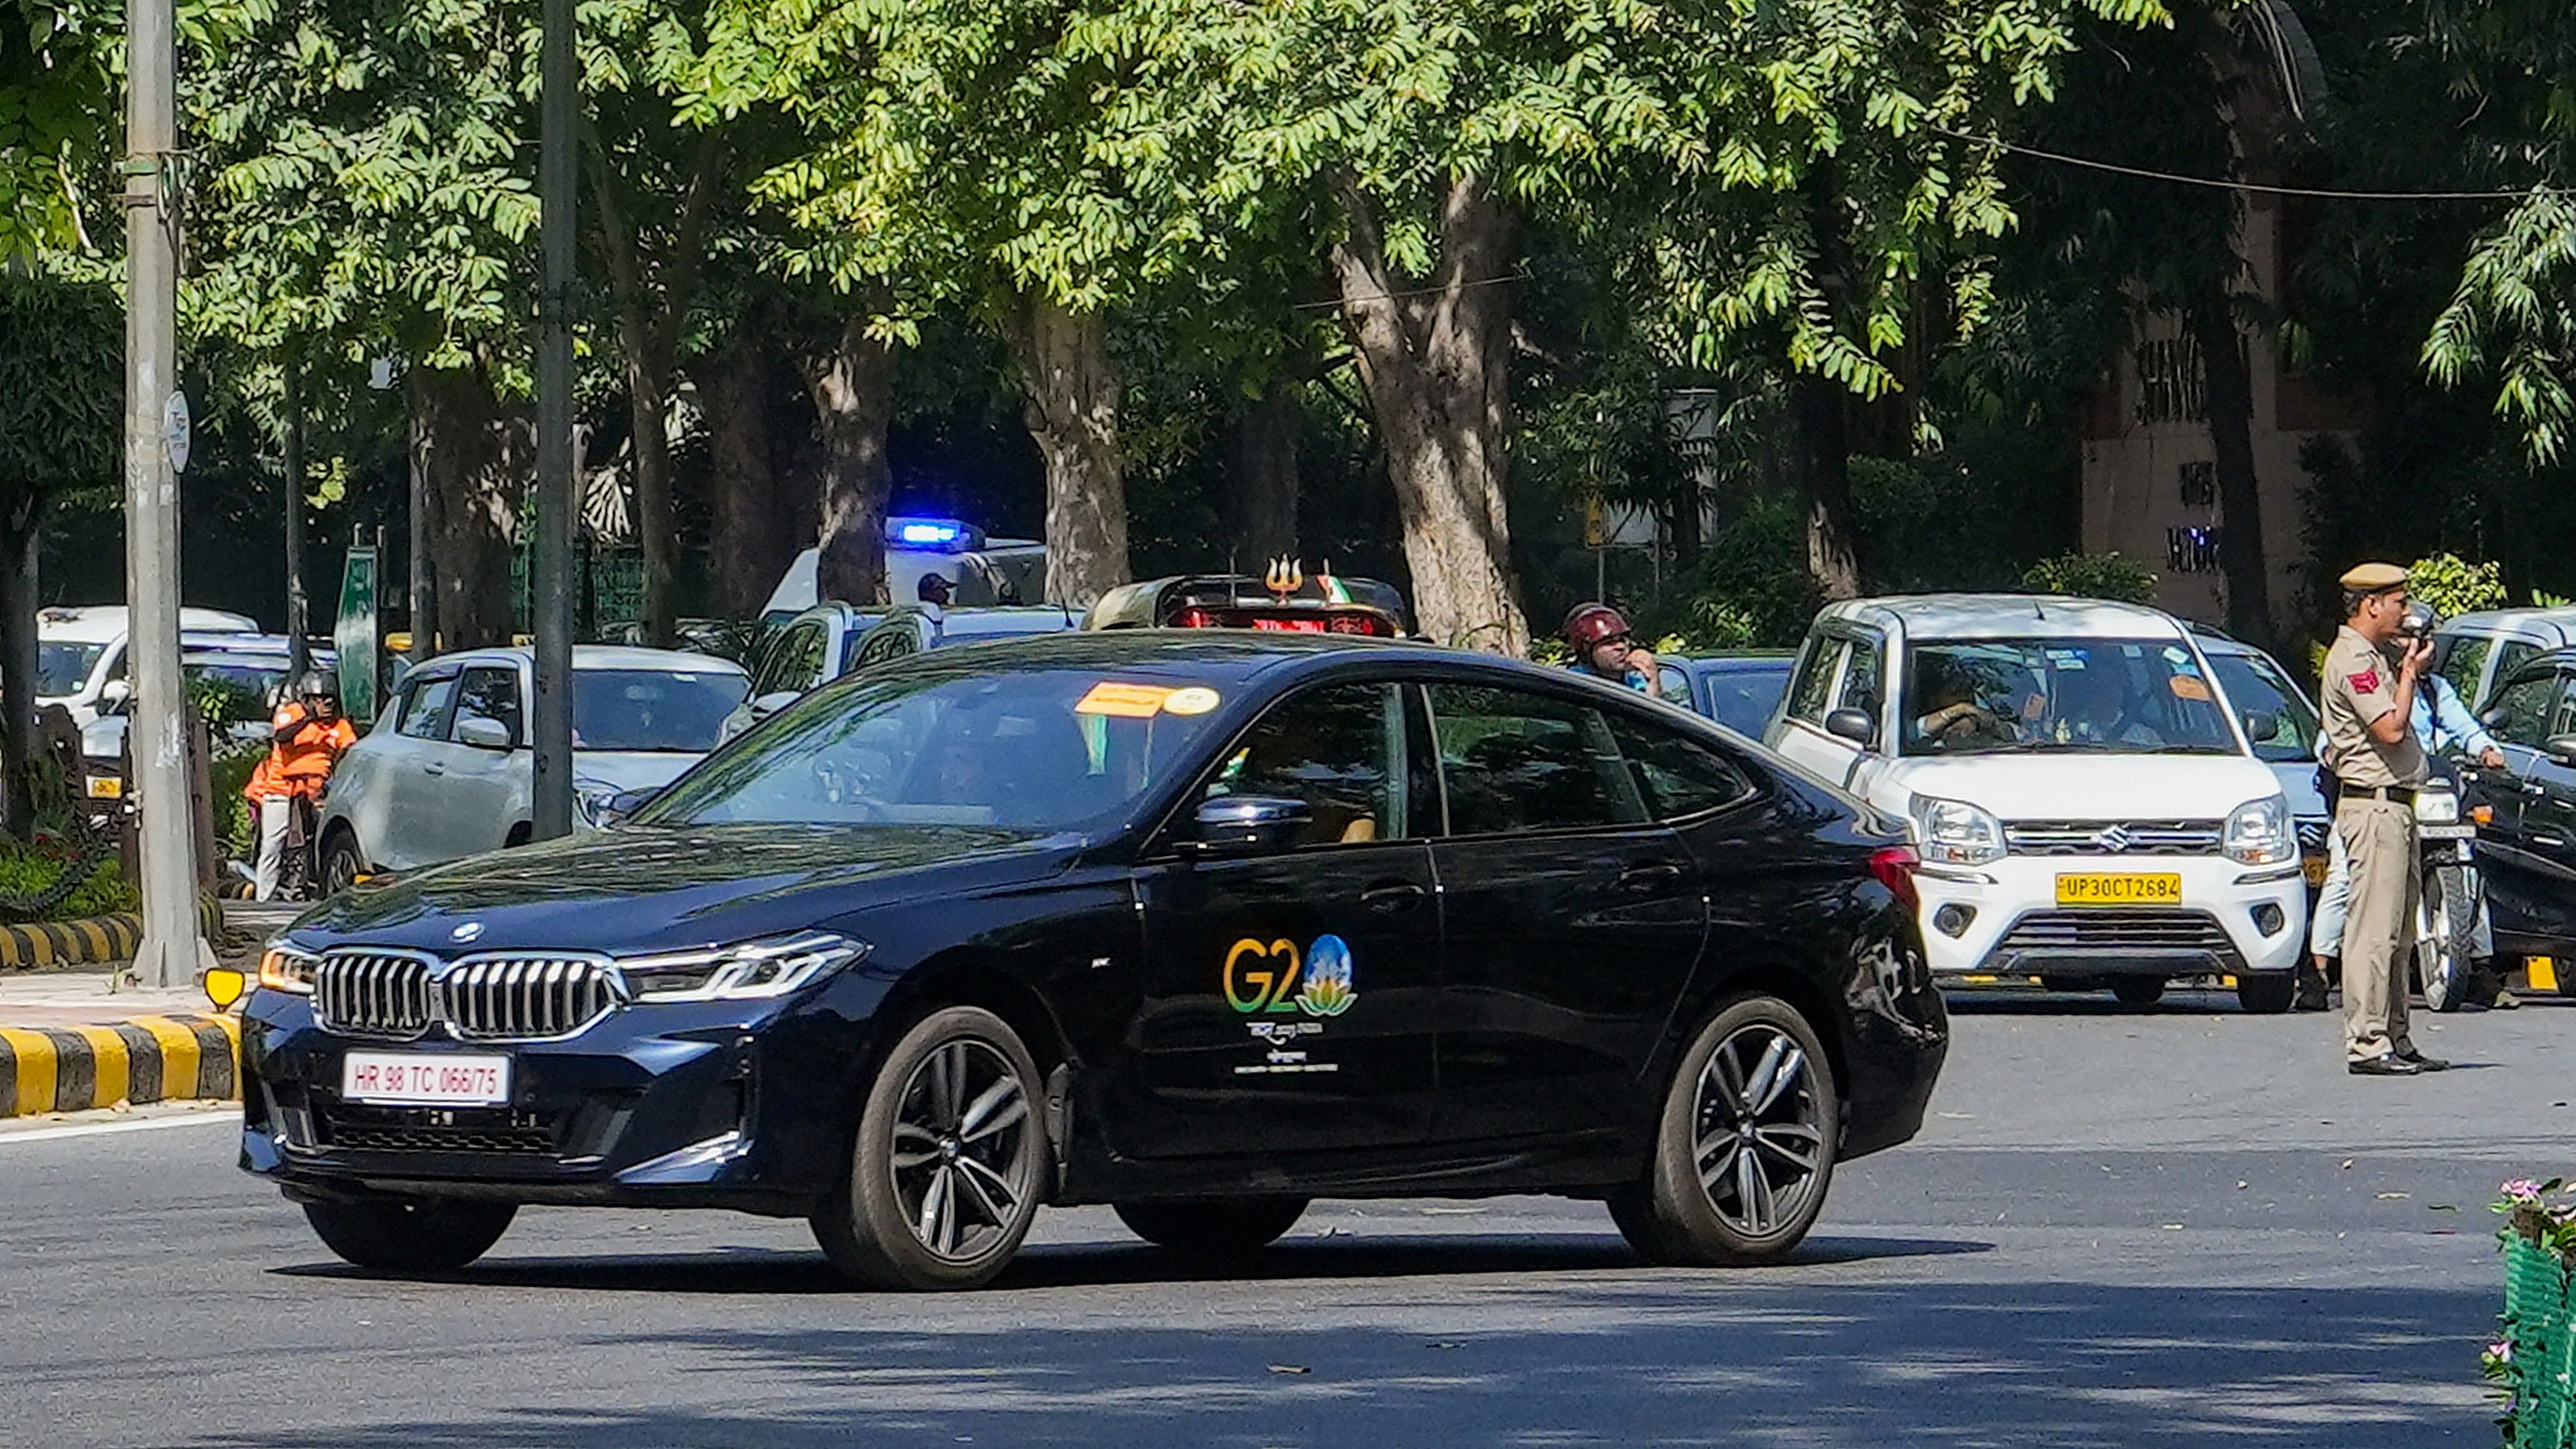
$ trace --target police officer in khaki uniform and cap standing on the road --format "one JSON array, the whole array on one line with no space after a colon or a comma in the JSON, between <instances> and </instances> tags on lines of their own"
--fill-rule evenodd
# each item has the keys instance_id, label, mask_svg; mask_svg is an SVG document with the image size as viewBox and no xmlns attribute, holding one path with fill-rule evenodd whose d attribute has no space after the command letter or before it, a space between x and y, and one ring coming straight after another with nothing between
<instances>
[{"instance_id":1,"label":"police officer in khaki uniform and cap standing on the road","mask_svg":"<svg viewBox=\"0 0 2576 1449\"><path fill-rule=\"evenodd\" d=\"M2342 785L2334 834L2352 860L2344 924L2344 1068L2354 1076L2442 1071L2406 1037L2414 957L2414 793L2429 777L2414 734L2414 695L2432 643L2398 643L2406 569L2362 564L2342 579L2344 628L2326 651L2326 770Z\"/></svg>"}]
</instances>

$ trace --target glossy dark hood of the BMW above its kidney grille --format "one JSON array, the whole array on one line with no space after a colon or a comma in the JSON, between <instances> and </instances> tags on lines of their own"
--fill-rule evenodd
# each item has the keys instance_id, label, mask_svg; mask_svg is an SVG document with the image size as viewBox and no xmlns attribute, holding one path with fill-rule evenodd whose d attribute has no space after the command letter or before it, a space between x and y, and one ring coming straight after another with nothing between
<instances>
[{"instance_id":1,"label":"glossy dark hood of the BMW above its kidney grille","mask_svg":"<svg viewBox=\"0 0 2576 1449\"><path fill-rule=\"evenodd\" d=\"M307 911L307 947L688 950L1054 875L1082 836L984 826L618 829L474 854ZM471 929L469 929L471 927Z\"/></svg>"}]
</instances>

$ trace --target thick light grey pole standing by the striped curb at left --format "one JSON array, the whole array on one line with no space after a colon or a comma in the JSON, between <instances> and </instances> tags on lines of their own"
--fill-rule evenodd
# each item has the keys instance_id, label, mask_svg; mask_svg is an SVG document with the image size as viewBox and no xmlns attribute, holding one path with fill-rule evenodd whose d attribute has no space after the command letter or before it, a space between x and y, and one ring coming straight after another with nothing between
<instances>
[{"instance_id":1,"label":"thick light grey pole standing by the striped curb at left","mask_svg":"<svg viewBox=\"0 0 2576 1449\"><path fill-rule=\"evenodd\" d=\"M188 831L188 697L178 672L178 49L170 0L126 5L126 672L142 808L144 942L134 970L185 986L214 965L196 929Z\"/></svg>"}]
</instances>

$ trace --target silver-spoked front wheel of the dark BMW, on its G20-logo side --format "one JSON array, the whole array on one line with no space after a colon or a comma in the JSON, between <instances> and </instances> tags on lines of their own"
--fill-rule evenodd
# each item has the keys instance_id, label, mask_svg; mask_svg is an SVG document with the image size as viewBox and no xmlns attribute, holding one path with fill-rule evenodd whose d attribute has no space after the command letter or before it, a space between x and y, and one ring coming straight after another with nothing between
<instances>
[{"instance_id":1,"label":"silver-spoked front wheel of the dark BMW, on its G20-logo side","mask_svg":"<svg viewBox=\"0 0 2576 1449\"><path fill-rule=\"evenodd\" d=\"M984 1287L1020 1251L1046 1189L1038 1063L976 1006L922 1017L858 1112L850 1171L814 1238L853 1282Z\"/></svg>"}]
</instances>

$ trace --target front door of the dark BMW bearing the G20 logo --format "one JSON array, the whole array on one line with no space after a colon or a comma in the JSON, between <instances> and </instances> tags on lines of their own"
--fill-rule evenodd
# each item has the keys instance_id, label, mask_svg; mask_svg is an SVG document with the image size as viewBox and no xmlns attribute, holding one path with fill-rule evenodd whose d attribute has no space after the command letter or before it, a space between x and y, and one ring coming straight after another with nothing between
<instances>
[{"instance_id":1,"label":"front door of the dark BMW bearing the G20 logo","mask_svg":"<svg viewBox=\"0 0 2576 1449\"><path fill-rule=\"evenodd\" d=\"M1144 983L1110 1073L1123 1156L1388 1148L1430 1132L1437 1091L1437 824L1417 705L1394 682L1273 705L1136 870ZM1208 798L1291 798L1293 844L1203 857Z\"/></svg>"}]
</instances>

